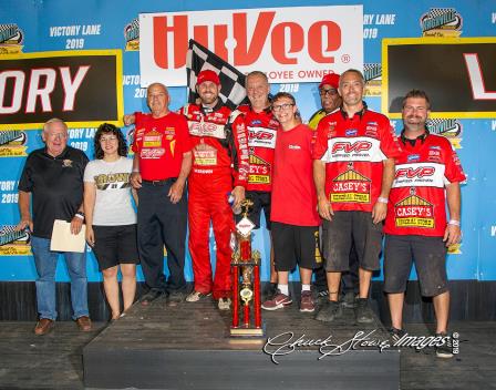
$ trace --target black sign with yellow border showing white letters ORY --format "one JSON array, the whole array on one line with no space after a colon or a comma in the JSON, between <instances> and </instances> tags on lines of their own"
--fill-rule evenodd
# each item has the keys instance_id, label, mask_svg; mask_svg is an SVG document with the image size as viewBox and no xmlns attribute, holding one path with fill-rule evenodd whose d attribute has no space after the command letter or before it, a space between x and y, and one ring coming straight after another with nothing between
<instances>
[{"instance_id":1,"label":"black sign with yellow border showing white letters ORY","mask_svg":"<svg viewBox=\"0 0 496 390\"><path fill-rule=\"evenodd\" d=\"M0 130L118 125L123 112L121 50L0 57Z\"/></svg>"}]
</instances>

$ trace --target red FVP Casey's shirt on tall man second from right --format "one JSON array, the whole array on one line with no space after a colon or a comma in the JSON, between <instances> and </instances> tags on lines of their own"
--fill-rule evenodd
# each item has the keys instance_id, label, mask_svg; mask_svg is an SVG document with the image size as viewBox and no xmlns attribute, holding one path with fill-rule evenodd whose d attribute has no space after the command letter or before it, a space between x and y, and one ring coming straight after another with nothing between
<instances>
[{"instance_id":1,"label":"red FVP Casey's shirt on tall man second from right","mask_svg":"<svg viewBox=\"0 0 496 390\"><path fill-rule=\"evenodd\" d=\"M399 155L390 121L366 106L353 117L339 110L317 126L313 158L326 162L326 195L333 211L372 212L383 161Z\"/></svg>"}]
</instances>

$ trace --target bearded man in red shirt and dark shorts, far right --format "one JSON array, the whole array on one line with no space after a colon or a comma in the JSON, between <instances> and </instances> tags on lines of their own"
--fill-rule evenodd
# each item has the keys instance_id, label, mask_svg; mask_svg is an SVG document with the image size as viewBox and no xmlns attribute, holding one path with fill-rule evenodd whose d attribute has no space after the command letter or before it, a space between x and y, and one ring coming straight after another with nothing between
<instances>
[{"instance_id":1,"label":"bearded man in red shirt and dark shorts, far right","mask_svg":"<svg viewBox=\"0 0 496 390\"><path fill-rule=\"evenodd\" d=\"M397 340L405 335L403 301L413 257L422 296L433 297L436 336L444 340L436 356L451 358L446 248L462 238L459 183L466 176L450 141L428 133L425 122L430 109L424 91L412 90L403 99L402 153L395 161L384 225L384 291L390 304L391 333Z\"/></svg>"}]
</instances>

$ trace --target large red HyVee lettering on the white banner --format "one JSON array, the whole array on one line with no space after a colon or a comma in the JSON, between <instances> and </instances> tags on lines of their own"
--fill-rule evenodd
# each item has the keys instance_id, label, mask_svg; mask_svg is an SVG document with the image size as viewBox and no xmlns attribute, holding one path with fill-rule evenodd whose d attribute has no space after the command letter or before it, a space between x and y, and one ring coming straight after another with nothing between
<instances>
[{"instance_id":1,"label":"large red HyVee lettering on the white banner","mask_svg":"<svg viewBox=\"0 0 496 390\"><path fill-rule=\"evenodd\" d=\"M334 62L334 57L326 52L333 52L341 47L341 29L337 23L319 20L310 25L306 34L306 31L299 23L275 23L275 18L276 11L260 12L256 21L256 29L249 38L247 12L232 13L232 39L237 42L234 50L235 66L254 64L260 57L266 43L270 44L272 57L280 64L298 63L298 58L294 54L301 52L306 44L308 44L308 54L316 62ZM164 69L174 66L177 69L186 64L188 19L188 16L155 17L153 19L155 61L158 66ZM209 29L214 30L216 54L226 59L228 55L225 45L227 24L215 24L213 28L209 25L194 25L193 39L206 43L205 40L208 37ZM289 34L286 34L287 31ZM167 45L169 34L174 39L175 44L173 48ZM308 41L306 42L306 40ZM327 48L327 50L323 51L323 48ZM168 61L169 49L174 50L173 63Z\"/></svg>"}]
</instances>

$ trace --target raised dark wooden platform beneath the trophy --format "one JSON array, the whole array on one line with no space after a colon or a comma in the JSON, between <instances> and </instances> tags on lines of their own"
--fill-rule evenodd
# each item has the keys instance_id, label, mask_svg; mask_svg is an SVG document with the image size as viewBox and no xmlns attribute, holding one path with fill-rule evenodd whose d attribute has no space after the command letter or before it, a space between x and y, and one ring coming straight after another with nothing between
<instances>
[{"instance_id":1,"label":"raised dark wooden platform beneath the trophy","mask_svg":"<svg viewBox=\"0 0 496 390\"><path fill-rule=\"evenodd\" d=\"M292 332L291 341L332 337L335 345L358 331L370 339L388 340L376 320L356 326L353 309L339 324L319 322L301 314L298 301L282 310L264 311L267 337ZM266 339L228 337L230 311L220 312L210 298L202 302L168 306L165 299L148 307L135 304L125 317L113 321L83 349L84 384L89 388L141 389L399 389L400 351L376 347L322 355L317 347L296 348L286 356L262 351ZM289 341L289 335L280 340ZM286 342L285 342L286 343ZM279 347L270 347L275 351ZM329 350L330 348L328 348ZM288 348L286 348L288 351Z\"/></svg>"}]
</instances>

